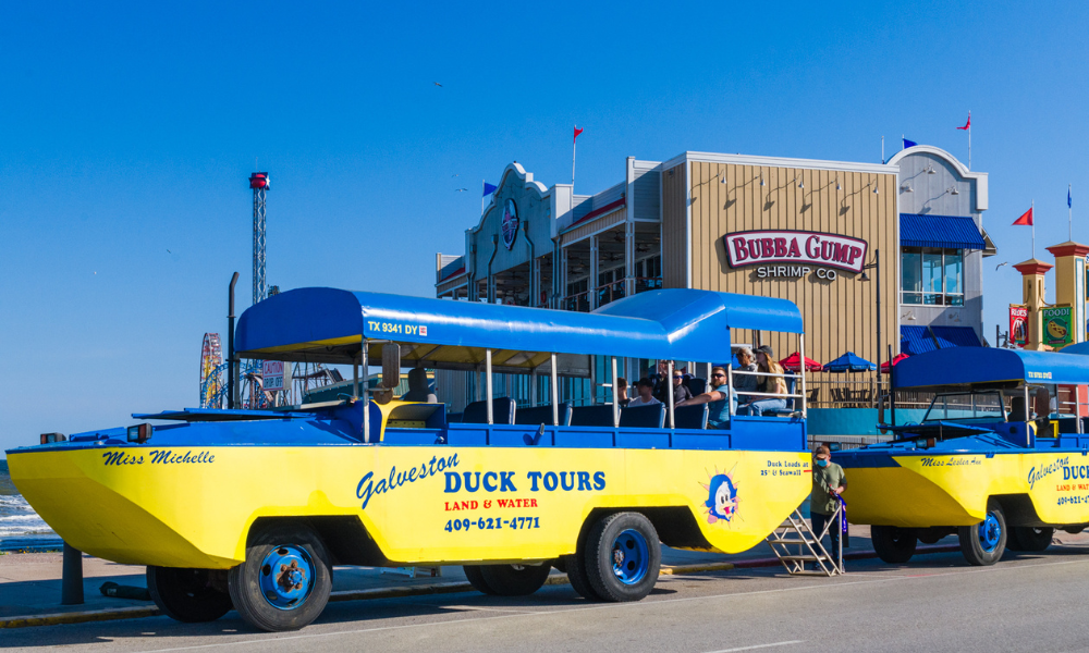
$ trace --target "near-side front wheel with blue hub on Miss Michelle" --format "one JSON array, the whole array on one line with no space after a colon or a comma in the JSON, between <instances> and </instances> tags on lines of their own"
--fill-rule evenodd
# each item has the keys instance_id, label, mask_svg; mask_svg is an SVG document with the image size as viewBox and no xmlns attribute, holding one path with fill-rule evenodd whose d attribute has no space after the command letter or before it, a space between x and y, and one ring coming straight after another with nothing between
<instances>
[{"instance_id":1,"label":"near-side front wheel with blue hub on Miss Michelle","mask_svg":"<svg viewBox=\"0 0 1089 653\"><path fill-rule=\"evenodd\" d=\"M293 564L280 564L286 560ZM238 615L254 628L298 630L318 618L329 602L329 553L305 523L259 526L249 533L246 562L231 569L228 586Z\"/></svg>"}]
</instances>

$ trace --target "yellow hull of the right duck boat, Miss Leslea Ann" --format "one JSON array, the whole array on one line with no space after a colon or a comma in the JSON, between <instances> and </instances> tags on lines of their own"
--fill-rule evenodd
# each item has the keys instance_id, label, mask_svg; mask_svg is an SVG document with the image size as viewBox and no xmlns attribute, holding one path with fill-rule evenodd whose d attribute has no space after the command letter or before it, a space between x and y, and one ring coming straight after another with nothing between
<instances>
[{"instance_id":1,"label":"yellow hull of the right duck boat, Miss Leslea Ann","mask_svg":"<svg viewBox=\"0 0 1089 653\"><path fill-rule=\"evenodd\" d=\"M996 495L1027 497L1042 523L1089 522L1089 456L1080 452L892 459L898 467L845 468L852 523L970 526L983 520L988 497Z\"/></svg>"}]
</instances>

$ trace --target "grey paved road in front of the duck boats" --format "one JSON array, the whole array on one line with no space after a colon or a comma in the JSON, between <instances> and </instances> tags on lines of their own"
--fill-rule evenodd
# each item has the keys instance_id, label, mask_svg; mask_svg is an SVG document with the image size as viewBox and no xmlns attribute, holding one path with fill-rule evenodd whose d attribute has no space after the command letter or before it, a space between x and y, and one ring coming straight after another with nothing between
<instances>
[{"instance_id":1,"label":"grey paved road in front of the duck boats","mask_svg":"<svg viewBox=\"0 0 1089 653\"><path fill-rule=\"evenodd\" d=\"M1089 651L1089 549L968 567L959 554L853 564L836 579L774 569L662 577L640 603L566 586L521 600L475 593L330 604L295 633L167 617L0 631L0 648L74 651Z\"/></svg>"}]
</instances>

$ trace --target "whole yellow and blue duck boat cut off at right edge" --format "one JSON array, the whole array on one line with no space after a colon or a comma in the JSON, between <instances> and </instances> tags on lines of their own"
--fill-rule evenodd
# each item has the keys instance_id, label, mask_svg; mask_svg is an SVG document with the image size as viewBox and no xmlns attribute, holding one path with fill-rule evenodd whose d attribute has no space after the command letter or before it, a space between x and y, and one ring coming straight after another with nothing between
<instances>
[{"instance_id":1,"label":"whole yellow and blue duck boat cut off at right edge","mask_svg":"<svg viewBox=\"0 0 1089 653\"><path fill-rule=\"evenodd\" d=\"M1061 416L1052 398L1087 383L1089 357L1074 354L955 347L904 359L894 392L932 402L919 423L882 424L893 442L836 454L848 521L871 525L889 563L956 533L970 564L991 565L1006 549L1047 549L1056 529L1081 531L1089 435L1075 414L1086 406Z\"/></svg>"}]
</instances>

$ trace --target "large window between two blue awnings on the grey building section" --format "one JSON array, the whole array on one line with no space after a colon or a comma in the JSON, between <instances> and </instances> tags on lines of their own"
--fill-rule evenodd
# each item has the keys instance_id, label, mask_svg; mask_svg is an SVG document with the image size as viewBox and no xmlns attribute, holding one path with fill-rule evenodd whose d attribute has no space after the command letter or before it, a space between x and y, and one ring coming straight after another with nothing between
<instances>
[{"instance_id":1,"label":"large window between two blue awnings on the grey building section","mask_svg":"<svg viewBox=\"0 0 1089 653\"><path fill-rule=\"evenodd\" d=\"M964 306L964 250L904 247L901 304Z\"/></svg>"}]
</instances>

